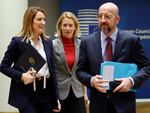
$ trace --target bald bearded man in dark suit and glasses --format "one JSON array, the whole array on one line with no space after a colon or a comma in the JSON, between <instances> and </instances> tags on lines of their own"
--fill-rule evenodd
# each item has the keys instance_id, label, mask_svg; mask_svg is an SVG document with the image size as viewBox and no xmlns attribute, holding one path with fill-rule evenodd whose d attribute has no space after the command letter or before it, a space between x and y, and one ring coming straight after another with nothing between
<instances>
[{"instance_id":1,"label":"bald bearded man in dark suit and glasses","mask_svg":"<svg viewBox=\"0 0 150 113\"><path fill-rule=\"evenodd\" d=\"M119 9L114 3L104 3L98 12L100 31L81 39L80 56L77 67L78 79L91 89L91 113L136 113L135 92L150 77L150 61L145 57L140 40L117 28ZM135 63L139 71L129 78L117 82L102 80L100 65L107 60L107 37L111 39L113 62ZM109 53L110 55L110 53ZM103 83L109 83L113 90L106 90Z\"/></svg>"}]
</instances>

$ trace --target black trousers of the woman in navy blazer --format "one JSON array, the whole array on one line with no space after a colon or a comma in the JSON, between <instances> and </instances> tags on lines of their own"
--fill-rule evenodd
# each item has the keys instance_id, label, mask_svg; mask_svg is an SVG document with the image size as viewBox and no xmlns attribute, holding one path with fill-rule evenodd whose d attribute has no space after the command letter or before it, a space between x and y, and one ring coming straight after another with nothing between
<instances>
[{"instance_id":1,"label":"black trousers of the woman in navy blazer","mask_svg":"<svg viewBox=\"0 0 150 113\"><path fill-rule=\"evenodd\" d=\"M43 80L36 81L36 91L30 87L28 95L28 103L23 109L19 109L20 113L52 113L51 100L49 98L48 87L43 89Z\"/></svg>"}]
</instances>

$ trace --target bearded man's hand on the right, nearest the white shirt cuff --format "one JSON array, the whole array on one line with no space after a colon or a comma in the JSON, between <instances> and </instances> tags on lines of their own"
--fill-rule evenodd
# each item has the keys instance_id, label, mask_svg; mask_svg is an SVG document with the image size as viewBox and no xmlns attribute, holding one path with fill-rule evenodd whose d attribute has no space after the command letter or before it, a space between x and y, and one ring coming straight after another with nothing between
<instances>
[{"instance_id":1,"label":"bearded man's hand on the right, nearest the white shirt cuff","mask_svg":"<svg viewBox=\"0 0 150 113\"><path fill-rule=\"evenodd\" d=\"M116 79L116 81L120 81L121 84L113 92L128 92L132 87L132 81L129 78Z\"/></svg>"}]
</instances>

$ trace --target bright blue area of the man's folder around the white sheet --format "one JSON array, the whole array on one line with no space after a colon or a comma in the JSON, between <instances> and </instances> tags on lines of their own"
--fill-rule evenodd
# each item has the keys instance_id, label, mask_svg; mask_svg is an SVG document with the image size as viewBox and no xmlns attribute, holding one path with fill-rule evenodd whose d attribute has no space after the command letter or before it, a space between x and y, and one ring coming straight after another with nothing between
<instances>
[{"instance_id":1,"label":"bright blue area of the man's folder around the white sheet","mask_svg":"<svg viewBox=\"0 0 150 113\"><path fill-rule=\"evenodd\" d=\"M103 76L104 66L114 66L114 79L117 78L127 78L134 75L137 72L137 65L131 63L119 63L119 62L110 62L106 61L101 63L101 72Z\"/></svg>"}]
</instances>

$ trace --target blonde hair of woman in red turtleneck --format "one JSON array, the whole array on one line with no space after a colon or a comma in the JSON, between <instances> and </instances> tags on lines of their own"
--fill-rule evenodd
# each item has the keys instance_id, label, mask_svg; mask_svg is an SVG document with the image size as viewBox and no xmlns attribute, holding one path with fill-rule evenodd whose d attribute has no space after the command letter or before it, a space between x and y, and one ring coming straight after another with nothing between
<instances>
[{"instance_id":1,"label":"blonde hair of woman in red turtleneck","mask_svg":"<svg viewBox=\"0 0 150 113\"><path fill-rule=\"evenodd\" d=\"M78 21L77 17L72 12L68 12L68 11L65 11L59 17L59 19L57 21L57 24L56 24L55 36L56 37L61 37L60 27L61 27L61 24L62 24L62 21L63 21L64 18L72 19L74 21L76 29L75 29L75 32L73 34L73 38L79 37L80 36L79 21Z\"/></svg>"}]
</instances>

